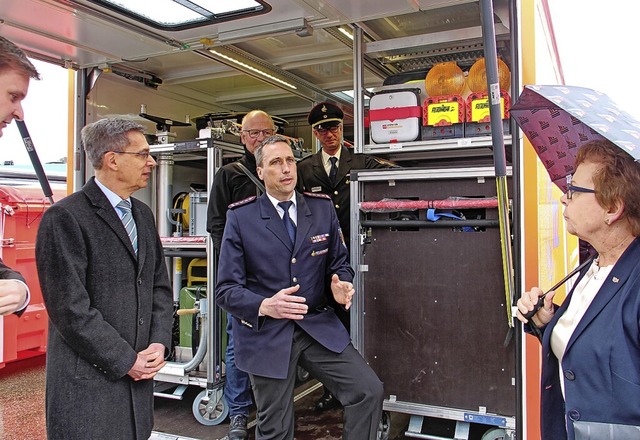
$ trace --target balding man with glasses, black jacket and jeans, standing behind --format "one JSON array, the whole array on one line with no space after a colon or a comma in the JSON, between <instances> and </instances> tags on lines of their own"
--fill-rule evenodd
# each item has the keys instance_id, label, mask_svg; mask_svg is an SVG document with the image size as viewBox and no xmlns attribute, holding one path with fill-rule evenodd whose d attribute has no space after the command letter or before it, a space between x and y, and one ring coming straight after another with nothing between
<instances>
[{"instance_id":1,"label":"balding man with glasses, black jacket and jeans, standing behind","mask_svg":"<svg viewBox=\"0 0 640 440\"><path fill-rule=\"evenodd\" d=\"M218 170L209 196L207 231L211 234L216 256L220 253L229 205L251 196L259 196L263 192L256 171L254 152L260 142L275 132L273 119L262 110L252 110L242 118L240 141L244 145L244 154L236 162L226 164ZM249 375L235 365L231 323L231 316L227 315L224 398L229 406L228 438L244 440L247 438L247 419L253 401Z\"/></svg>"}]
</instances>

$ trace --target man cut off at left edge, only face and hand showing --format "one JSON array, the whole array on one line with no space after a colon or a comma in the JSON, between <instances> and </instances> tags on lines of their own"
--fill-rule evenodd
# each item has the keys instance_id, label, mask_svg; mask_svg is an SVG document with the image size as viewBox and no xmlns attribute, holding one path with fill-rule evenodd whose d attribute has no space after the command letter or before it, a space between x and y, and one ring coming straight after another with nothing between
<instances>
[{"instance_id":1,"label":"man cut off at left edge, only face and hand showing","mask_svg":"<svg viewBox=\"0 0 640 440\"><path fill-rule=\"evenodd\" d=\"M25 53L0 37L0 137L11 121L24 118L22 100L31 78L40 79L40 74ZM0 258L0 315L21 314L28 303L29 289L24 278Z\"/></svg>"}]
</instances>

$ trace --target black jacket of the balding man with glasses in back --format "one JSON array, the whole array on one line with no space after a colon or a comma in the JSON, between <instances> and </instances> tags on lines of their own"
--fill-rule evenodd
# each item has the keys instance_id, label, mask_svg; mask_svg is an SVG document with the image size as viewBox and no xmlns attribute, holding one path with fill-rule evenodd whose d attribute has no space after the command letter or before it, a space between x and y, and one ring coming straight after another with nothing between
<instances>
[{"instance_id":1,"label":"black jacket of the balding man with glasses in back","mask_svg":"<svg viewBox=\"0 0 640 440\"><path fill-rule=\"evenodd\" d=\"M256 159L246 148L244 156L237 162L242 163L258 179ZM256 184L236 166L236 162L226 164L218 170L211 185L207 206L207 231L211 234L216 252L220 252L228 206L257 195Z\"/></svg>"}]
</instances>

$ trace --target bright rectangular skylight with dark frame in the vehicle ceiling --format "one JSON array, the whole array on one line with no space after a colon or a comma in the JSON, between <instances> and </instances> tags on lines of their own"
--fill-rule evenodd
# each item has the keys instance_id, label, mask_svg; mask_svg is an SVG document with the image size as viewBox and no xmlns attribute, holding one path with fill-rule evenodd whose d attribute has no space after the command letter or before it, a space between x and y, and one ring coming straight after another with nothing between
<instances>
[{"instance_id":1,"label":"bright rectangular skylight with dark frame in the vehicle ceiling","mask_svg":"<svg viewBox=\"0 0 640 440\"><path fill-rule=\"evenodd\" d=\"M89 0L166 29L182 29L222 21L229 16L262 13L261 0Z\"/></svg>"}]
</instances>

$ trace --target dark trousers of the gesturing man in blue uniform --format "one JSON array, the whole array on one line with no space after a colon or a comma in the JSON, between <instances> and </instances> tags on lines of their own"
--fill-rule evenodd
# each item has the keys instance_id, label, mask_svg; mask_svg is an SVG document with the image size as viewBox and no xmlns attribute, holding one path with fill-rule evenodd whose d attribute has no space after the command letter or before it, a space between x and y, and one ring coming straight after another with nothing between
<instances>
[{"instance_id":1,"label":"dark trousers of the gesturing man in blue uniform","mask_svg":"<svg viewBox=\"0 0 640 440\"><path fill-rule=\"evenodd\" d=\"M349 344L334 353L296 326L286 379L250 375L257 405L256 440L293 440L296 367L302 365L344 406L345 440L375 439L384 390L378 376Z\"/></svg>"}]
</instances>

